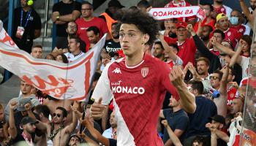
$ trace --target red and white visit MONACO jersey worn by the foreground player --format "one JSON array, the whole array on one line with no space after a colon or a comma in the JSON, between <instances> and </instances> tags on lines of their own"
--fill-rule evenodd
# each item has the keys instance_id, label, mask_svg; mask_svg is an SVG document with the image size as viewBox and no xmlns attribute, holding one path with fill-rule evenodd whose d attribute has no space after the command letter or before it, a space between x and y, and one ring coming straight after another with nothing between
<instances>
[{"instance_id":1,"label":"red and white visit MONACO jersey worn by the foreground player","mask_svg":"<svg viewBox=\"0 0 256 146\"><path fill-rule=\"evenodd\" d=\"M102 104L113 98L117 145L163 145L157 120L166 91L179 99L169 73L165 62L148 54L136 66L127 66L121 58L105 67L91 97L102 97Z\"/></svg>"}]
</instances>

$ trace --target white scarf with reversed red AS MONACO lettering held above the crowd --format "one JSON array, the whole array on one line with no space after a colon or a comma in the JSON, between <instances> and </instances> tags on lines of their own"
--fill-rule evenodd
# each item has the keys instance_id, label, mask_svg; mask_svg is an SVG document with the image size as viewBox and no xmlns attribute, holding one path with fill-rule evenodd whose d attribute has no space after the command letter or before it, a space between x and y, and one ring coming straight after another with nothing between
<instances>
[{"instance_id":1,"label":"white scarf with reversed red AS MONACO lettering held above the crowd","mask_svg":"<svg viewBox=\"0 0 256 146\"><path fill-rule=\"evenodd\" d=\"M199 6L152 8L148 13L152 15L156 20L186 18L193 15L196 15L197 18L200 18L201 20L206 18L206 12Z\"/></svg>"}]
</instances>

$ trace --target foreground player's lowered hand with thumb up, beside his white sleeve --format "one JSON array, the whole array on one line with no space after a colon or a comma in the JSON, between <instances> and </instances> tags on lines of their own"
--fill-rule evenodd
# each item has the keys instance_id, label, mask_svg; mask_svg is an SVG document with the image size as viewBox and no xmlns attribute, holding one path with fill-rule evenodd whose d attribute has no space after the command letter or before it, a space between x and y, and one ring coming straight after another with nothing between
<instances>
[{"instance_id":1,"label":"foreground player's lowered hand with thumb up, beside his white sleeve","mask_svg":"<svg viewBox=\"0 0 256 146\"><path fill-rule=\"evenodd\" d=\"M102 97L99 101L94 101L94 104L91 104L91 117L95 120L102 118L104 115L105 106L102 104Z\"/></svg>"}]
</instances>

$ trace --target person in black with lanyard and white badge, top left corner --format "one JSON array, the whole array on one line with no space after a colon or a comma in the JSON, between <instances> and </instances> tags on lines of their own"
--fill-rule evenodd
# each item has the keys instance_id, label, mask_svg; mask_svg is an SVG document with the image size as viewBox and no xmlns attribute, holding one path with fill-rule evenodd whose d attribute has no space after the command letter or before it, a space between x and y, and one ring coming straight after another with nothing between
<instances>
[{"instance_id":1,"label":"person in black with lanyard and white badge, top left corner","mask_svg":"<svg viewBox=\"0 0 256 146\"><path fill-rule=\"evenodd\" d=\"M33 40L41 34L41 18L28 1L20 0L20 5L14 10L12 40L21 50L31 53Z\"/></svg>"}]
</instances>

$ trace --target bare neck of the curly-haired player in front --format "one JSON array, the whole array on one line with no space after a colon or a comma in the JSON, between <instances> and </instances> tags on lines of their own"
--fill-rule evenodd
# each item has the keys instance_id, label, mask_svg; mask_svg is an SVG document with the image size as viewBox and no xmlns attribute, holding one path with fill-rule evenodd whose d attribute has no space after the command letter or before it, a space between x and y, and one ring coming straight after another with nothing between
<instances>
[{"instance_id":1,"label":"bare neck of the curly-haired player in front","mask_svg":"<svg viewBox=\"0 0 256 146\"><path fill-rule=\"evenodd\" d=\"M140 62L143 61L143 56L143 51L132 56L126 56L125 61L127 66L136 66L140 64Z\"/></svg>"}]
</instances>

